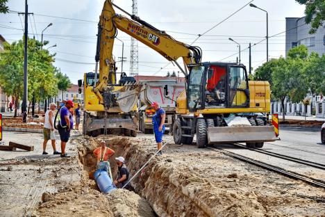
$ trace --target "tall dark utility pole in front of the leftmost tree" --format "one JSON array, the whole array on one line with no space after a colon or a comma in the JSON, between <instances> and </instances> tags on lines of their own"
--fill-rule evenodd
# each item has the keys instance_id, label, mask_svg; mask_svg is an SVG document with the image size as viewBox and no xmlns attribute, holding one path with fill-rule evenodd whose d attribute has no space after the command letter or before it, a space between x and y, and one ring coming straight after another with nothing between
<instances>
[{"instance_id":1,"label":"tall dark utility pole in front of the leftmost tree","mask_svg":"<svg viewBox=\"0 0 325 217\"><path fill-rule=\"evenodd\" d=\"M28 4L25 0L25 33L24 33L24 95L23 95L23 104L22 104L22 116L23 122L27 122L27 96L28 96L28 71L27 71L27 43L28 43Z\"/></svg>"}]
</instances>

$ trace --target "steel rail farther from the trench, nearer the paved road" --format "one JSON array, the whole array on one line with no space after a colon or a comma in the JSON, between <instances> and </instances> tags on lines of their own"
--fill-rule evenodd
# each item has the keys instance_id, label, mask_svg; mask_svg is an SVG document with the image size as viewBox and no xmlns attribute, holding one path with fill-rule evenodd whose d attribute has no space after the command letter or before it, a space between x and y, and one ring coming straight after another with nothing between
<instances>
[{"instance_id":1,"label":"steel rail farther from the trench, nearer the paved road","mask_svg":"<svg viewBox=\"0 0 325 217\"><path fill-rule=\"evenodd\" d=\"M260 153L263 153L263 154L267 154L269 156L275 156L275 157L280 158L280 159L285 159L287 161L292 161L292 162L295 162L295 163L301 163L301 164L306 165L306 166L311 166L313 168L317 168L317 169L320 169L320 170L325 170L325 164L322 164L322 163L307 161L307 160L296 158L294 156L278 154L278 153L270 152L270 151L267 151L267 150L253 149L253 148L246 147L246 145L242 145L242 144L239 144L239 143L233 143L231 145L234 145L235 147L241 147L241 148L244 148L244 149L247 149L247 150L251 150L252 152L260 152Z\"/></svg>"}]
</instances>

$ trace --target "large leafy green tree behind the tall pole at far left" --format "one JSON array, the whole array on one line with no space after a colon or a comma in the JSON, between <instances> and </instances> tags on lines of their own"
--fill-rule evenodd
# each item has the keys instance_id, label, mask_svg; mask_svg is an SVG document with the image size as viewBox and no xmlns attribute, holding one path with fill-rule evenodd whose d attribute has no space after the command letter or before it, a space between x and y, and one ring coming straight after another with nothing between
<instances>
[{"instance_id":1,"label":"large leafy green tree behind the tall pole at far left","mask_svg":"<svg viewBox=\"0 0 325 217\"><path fill-rule=\"evenodd\" d=\"M0 54L0 83L6 94L15 97L15 104L22 98L24 81L24 42L19 40L11 45L4 43L4 51ZM50 97L57 93L55 67L52 63L54 55L42 49L41 42L28 39L28 99L36 100ZM39 90L43 90L39 93ZM17 107L15 117L17 116Z\"/></svg>"}]
</instances>

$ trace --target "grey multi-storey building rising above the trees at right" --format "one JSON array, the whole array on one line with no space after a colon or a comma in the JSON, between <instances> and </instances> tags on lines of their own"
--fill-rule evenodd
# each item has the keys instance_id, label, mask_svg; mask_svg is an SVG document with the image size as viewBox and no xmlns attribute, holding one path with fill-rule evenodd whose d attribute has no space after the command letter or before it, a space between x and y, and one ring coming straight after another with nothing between
<instances>
[{"instance_id":1,"label":"grey multi-storey building rising above the trees at right","mask_svg":"<svg viewBox=\"0 0 325 217\"><path fill-rule=\"evenodd\" d=\"M309 53L316 52L319 56L325 54L325 26L319 26L315 34L310 34L310 24L306 24L305 17L285 18L285 56L292 47L306 45Z\"/></svg>"}]
</instances>

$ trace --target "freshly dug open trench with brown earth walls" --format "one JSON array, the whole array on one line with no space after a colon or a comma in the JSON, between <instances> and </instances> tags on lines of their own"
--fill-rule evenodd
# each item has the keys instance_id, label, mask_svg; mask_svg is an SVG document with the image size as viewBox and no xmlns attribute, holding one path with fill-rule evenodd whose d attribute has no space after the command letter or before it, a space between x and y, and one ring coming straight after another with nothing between
<instances>
[{"instance_id":1,"label":"freshly dug open trench with brown earth walls","mask_svg":"<svg viewBox=\"0 0 325 217\"><path fill-rule=\"evenodd\" d=\"M92 174L94 170L96 170L97 163L92 152L98 147L100 140L106 140L109 144L108 147L115 150L115 156L124 156L126 159L126 166L131 173L130 176L135 174L153 154L153 152L142 149L145 146L142 146L143 144L141 144L141 141L137 143L136 138L130 139L122 136L113 136L109 138L107 136L100 136L97 138L87 137L82 141L78 140L78 158L83 167L83 179L86 179L86 182L92 182L90 179L93 178ZM152 141L147 140L147 142L151 143ZM152 147L154 146L152 145ZM109 161L113 177L116 177L117 166L115 158ZM131 182L133 188L135 188L135 192L141 196L140 200L142 200L138 204L138 207L135 208L142 210L138 210L136 213L139 214L139 216L209 216L186 195L187 193L182 192L177 184L175 185L170 181L173 179L173 168L166 165L168 161L163 161L162 165L158 162L158 158L152 159L148 166L140 172L140 175ZM166 166L168 169L166 169ZM183 179L186 178L187 177L183 177ZM120 195L120 193L117 193L118 191L121 190L113 191L113 193L107 195L108 198L112 199L110 202L114 203L113 200L118 198L118 195ZM126 197L123 197L122 200L126 200L124 202L128 204L128 197L133 195L133 193L126 190L124 190L123 193ZM122 206L124 202L118 205ZM151 209L151 211L147 207L149 204L153 209ZM110 203L110 205L112 205L112 203ZM115 205L116 204L113 204L113 207ZM115 206L113 210L117 207Z\"/></svg>"}]
</instances>

